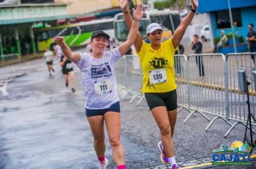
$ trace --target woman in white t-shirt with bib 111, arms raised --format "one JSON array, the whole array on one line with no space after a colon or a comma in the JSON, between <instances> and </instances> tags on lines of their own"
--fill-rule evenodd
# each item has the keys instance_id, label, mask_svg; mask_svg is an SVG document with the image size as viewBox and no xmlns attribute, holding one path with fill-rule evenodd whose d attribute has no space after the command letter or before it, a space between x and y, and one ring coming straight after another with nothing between
<instances>
[{"instance_id":1,"label":"woman in white t-shirt with bib 111, arms raised","mask_svg":"<svg viewBox=\"0 0 256 169\"><path fill-rule=\"evenodd\" d=\"M93 133L93 146L98 156L99 168L106 168L108 163L104 156L106 150L104 121L106 122L113 160L118 169L125 168L124 148L120 140L120 105L114 64L132 47L144 12L145 9L143 9L142 4L139 4L133 12L134 21L127 41L111 51L106 51L110 37L103 31L93 32L90 42L91 53L72 52L63 37L55 37L55 41L60 45L63 54L81 69L86 117Z\"/></svg>"}]
</instances>

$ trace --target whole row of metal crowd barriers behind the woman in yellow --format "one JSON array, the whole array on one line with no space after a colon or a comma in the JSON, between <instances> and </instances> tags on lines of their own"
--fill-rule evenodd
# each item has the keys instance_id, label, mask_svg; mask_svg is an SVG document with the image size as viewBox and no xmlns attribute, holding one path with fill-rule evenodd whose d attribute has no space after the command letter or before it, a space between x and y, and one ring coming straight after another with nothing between
<instances>
[{"instance_id":1,"label":"whole row of metal crowd barriers behind the woman in yellow","mask_svg":"<svg viewBox=\"0 0 256 169\"><path fill-rule=\"evenodd\" d=\"M218 119L230 125L224 137L238 124L246 125L247 122L247 95L239 92L238 69L247 70L247 75L252 78L252 69L255 65L250 59L252 54L175 54L175 82L178 84L178 112L182 109L190 114L184 123L195 113L201 114L206 120L211 121L206 131ZM255 55L256 56L256 55ZM124 86L126 94L132 95L132 102L140 98L137 105L145 99L140 92L142 89L142 69L136 55L126 55L120 60L116 68L116 77L119 84ZM256 110L256 89L250 86L250 102L252 115ZM214 115L210 120L206 115ZM230 122L234 120L234 124ZM256 125L255 122L252 125ZM253 131L255 132L255 131Z\"/></svg>"}]
</instances>

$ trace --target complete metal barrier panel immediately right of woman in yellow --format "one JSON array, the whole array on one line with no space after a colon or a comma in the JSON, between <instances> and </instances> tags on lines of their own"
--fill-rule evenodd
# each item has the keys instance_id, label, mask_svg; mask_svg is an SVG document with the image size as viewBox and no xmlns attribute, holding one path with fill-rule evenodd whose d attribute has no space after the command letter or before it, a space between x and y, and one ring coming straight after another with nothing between
<instances>
[{"instance_id":1,"label":"complete metal barrier panel immediately right of woman in yellow","mask_svg":"<svg viewBox=\"0 0 256 169\"><path fill-rule=\"evenodd\" d=\"M205 114L216 115L216 119L221 118L231 125L226 115L224 62L224 54L188 55L188 108L191 114L184 122L193 113L198 112L208 121L210 119ZM210 125L206 127L206 130Z\"/></svg>"}]
</instances>

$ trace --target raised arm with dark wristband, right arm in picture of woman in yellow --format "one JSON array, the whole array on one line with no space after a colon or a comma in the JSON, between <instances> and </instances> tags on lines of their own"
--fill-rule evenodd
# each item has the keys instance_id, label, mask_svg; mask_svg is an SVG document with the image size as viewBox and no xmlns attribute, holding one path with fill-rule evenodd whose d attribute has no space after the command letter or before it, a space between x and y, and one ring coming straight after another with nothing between
<instances>
[{"instance_id":1,"label":"raised arm with dark wristband, right arm in picture of woman in yellow","mask_svg":"<svg viewBox=\"0 0 256 169\"><path fill-rule=\"evenodd\" d=\"M198 7L198 0L191 0L191 1L192 1L192 10L196 11ZM193 16L195 16L196 12L193 12L193 11L188 12L188 15L180 22L180 25L175 30L172 37L174 48L178 47L178 45L180 44L180 41L183 35L185 34L186 29L188 28L188 25L191 23Z\"/></svg>"}]
</instances>

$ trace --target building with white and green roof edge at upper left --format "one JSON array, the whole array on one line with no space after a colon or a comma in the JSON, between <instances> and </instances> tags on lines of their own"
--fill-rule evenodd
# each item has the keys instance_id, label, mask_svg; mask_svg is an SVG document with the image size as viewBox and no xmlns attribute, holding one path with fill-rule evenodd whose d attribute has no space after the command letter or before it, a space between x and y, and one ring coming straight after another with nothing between
<instances>
[{"instance_id":1,"label":"building with white and green roof edge at upper left","mask_svg":"<svg viewBox=\"0 0 256 169\"><path fill-rule=\"evenodd\" d=\"M37 52L33 25L66 18L65 4L3 4L0 7L0 55Z\"/></svg>"}]
</instances>

